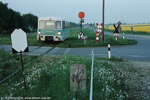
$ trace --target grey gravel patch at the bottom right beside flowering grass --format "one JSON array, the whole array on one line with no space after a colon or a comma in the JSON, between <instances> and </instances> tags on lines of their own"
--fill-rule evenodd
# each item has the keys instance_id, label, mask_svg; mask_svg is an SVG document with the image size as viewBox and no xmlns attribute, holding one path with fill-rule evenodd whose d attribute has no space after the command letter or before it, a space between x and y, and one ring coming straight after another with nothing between
<instances>
[{"instance_id":1,"label":"grey gravel patch at the bottom right beside flowering grass","mask_svg":"<svg viewBox=\"0 0 150 100\"><path fill-rule=\"evenodd\" d=\"M150 62L130 61L124 71L130 100L150 100Z\"/></svg>"}]
</instances>

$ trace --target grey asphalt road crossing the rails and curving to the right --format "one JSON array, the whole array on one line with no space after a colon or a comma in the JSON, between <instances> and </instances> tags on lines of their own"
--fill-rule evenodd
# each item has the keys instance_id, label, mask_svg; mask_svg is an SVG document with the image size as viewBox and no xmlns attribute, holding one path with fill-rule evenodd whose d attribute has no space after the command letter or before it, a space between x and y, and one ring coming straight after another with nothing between
<instances>
[{"instance_id":1,"label":"grey asphalt road crossing the rails and curving to the right","mask_svg":"<svg viewBox=\"0 0 150 100\"><path fill-rule=\"evenodd\" d=\"M107 32L106 34L112 35ZM122 35L120 35L122 37ZM135 61L150 61L150 36L140 35L127 35L126 38L135 39L138 41L137 45L130 46L111 46L111 54L113 56L121 57L126 60ZM11 45L0 44L0 49L4 48L5 51L11 52ZM59 47L39 47L29 46L27 55L77 55L91 57L92 49L94 50L95 57L107 57L107 47L90 47L90 48L59 48Z\"/></svg>"}]
</instances>

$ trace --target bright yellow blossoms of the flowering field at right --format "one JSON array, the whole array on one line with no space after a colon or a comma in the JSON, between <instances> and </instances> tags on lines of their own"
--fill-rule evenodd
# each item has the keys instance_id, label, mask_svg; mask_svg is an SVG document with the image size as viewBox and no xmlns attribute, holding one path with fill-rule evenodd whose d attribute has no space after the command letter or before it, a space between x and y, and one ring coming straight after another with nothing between
<instances>
[{"instance_id":1,"label":"bright yellow blossoms of the flowering field at right","mask_svg":"<svg viewBox=\"0 0 150 100\"><path fill-rule=\"evenodd\" d=\"M122 31L131 31L133 27L134 32L150 32L150 24L134 24L134 25L121 25ZM114 26L108 26L107 29L114 30Z\"/></svg>"}]
</instances>

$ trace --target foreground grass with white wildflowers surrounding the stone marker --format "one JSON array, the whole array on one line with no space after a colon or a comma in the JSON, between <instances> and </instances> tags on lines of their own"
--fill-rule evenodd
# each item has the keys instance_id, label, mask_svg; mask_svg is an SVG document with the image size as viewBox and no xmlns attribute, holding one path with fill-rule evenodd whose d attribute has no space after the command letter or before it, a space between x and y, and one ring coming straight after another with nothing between
<instances>
[{"instance_id":1,"label":"foreground grass with white wildflowers surrounding the stone marker","mask_svg":"<svg viewBox=\"0 0 150 100\"><path fill-rule=\"evenodd\" d=\"M4 53L3 51L0 52ZM5 55L9 54L6 53ZM10 56L9 58L12 58L12 55ZM24 57L24 61L25 59ZM1 97L50 97L51 100L73 100L73 98L89 100L90 58L63 55L40 56L35 58L34 61L31 61L31 59L32 57L28 57L28 60L24 62L27 90L24 91L21 68L17 67L18 73L1 83ZM118 65L119 62L123 62L123 60L115 57L111 60L95 58L93 100L126 100L128 98L128 86L124 84L125 76L120 70L124 66ZM72 64L86 65L86 93L70 91L70 66Z\"/></svg>"}]
</instances>

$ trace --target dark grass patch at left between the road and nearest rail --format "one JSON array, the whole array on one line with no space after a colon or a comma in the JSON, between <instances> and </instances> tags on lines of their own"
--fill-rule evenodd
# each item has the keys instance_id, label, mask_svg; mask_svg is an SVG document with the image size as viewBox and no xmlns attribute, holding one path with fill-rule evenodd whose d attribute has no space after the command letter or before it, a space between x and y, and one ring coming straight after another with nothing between
<instances>
[{"instance_id":1,"label":"dark grass patch at left between the road and nearest rail","mask_svg":"<svg viewBox=\"0 0 150 100\"><path fill-rule=\"evenodd\" d=\"M32 61L36 56L24 56L24 62ZM17 54L9 54L4 51L4 49L0 50L0 80L8 77L8 75L17 71L21 68L20 66L20 56Z\"/></svg>"}]
</instances>

